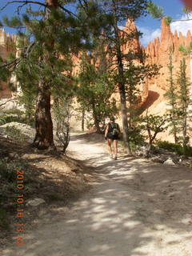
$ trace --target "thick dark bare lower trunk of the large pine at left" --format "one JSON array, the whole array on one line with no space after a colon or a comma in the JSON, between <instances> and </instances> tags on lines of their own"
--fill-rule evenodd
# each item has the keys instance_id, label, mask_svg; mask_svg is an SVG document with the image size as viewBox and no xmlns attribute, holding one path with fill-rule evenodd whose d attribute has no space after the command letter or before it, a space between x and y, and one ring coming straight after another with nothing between
<instances>
[{"instance_id":1,"label":"thick dark bare lower trunk of the large pine at left","mask_svg":"<svg viewBox=\"0 0 192 256\"><path fill-rule=\"evenodd\" d=\"M53 122L50 114L50 86L39 82L35 112L36 135L33 146L39 150L54 148Z\"/></svg>"}]
</instances>

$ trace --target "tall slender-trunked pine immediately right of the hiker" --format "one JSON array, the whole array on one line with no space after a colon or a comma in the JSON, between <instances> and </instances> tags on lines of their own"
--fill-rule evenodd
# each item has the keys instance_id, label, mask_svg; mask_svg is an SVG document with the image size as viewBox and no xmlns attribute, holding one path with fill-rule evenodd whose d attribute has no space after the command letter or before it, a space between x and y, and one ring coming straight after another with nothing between
<instances>
[{"instance_id":1,"label":"tall slender-trunked pine immediately right of the hiker","mask_svg":"<svg viewBox=\"0 0 192 256\"><path fill-rule=\"evenodd\" d=\"M138 59L138 56L133 58L133 53L128 54L127 56L123 54L122 46L126 42L130 42L137 38L140 33L133 31L130 34L127 34L125 31L121 30L119 26L127 20L132 21L145 16L147 14L147 0L110 0L110 1L101 1L103 4L103 10L107 14L111 14L111 30L106 34L106 38L110 43L110 54L114 56L114 82L118 86L118 93L120 96L120 105L121 105L121 114L122 114L122 136L123 142L126 147L127 153L130 154L130 142L129 142L129 122L127 114L127 94L128 91L132 91L127 82L129 80L129 75L126 75L126 66L125 63L133 59ZM142 70L142 69L141 69ZM134 71L134 69L133 69ZM128 72L127 72L128 73ZM143 72L143 75L145 72ZM133 92L131 92L134 97ZM131 96L131 97L132 97Z\"/></svg>"}]
</instances>

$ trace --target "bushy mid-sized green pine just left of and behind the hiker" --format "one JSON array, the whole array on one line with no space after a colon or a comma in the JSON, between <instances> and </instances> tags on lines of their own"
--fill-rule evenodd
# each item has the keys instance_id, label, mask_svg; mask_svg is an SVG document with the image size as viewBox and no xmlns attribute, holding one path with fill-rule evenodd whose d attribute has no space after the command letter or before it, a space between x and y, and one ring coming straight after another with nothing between
<instances>
[{"instance_id":1,"label":"bushy mid-sized green pine just left of and behind the hiker","mask_svg":"<svg viewBox=\"0 0 192 256\"><path fill-rule=\"evenodd\" d=\"M79 73L78 102L82 109L92 113L94 126L101 133L99 124L105 118L117 113L116 102L110 97L114 93L114 83L110 78L105 46L102 39L96 40L93 52L82 54Z\"/></svg>"}]
</instances>

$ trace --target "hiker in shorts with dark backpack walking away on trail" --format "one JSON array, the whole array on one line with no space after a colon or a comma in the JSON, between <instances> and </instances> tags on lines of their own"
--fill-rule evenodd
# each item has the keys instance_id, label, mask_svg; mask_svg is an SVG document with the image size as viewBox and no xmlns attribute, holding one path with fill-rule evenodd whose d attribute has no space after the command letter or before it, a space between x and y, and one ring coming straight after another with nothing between
<instances>
[{"instance_id":1,"label":"hiker in shorts with dark backpack walking away on trail","mask_svg":"<svg viewBox=\"0 0 192 256\"><path fill-rule=\"evenodd\" d=\"M117 160L118 139L119 139L119 134L120 134L120 128L118 126L118 123L116 123L114 121L115 121L115 118L111 117L110 122L106 126L105 140L107 141L110 158ZM111 148L113 142L114 142L114 158L113 158L113 150Z\"/></svg>"}]
</instances>

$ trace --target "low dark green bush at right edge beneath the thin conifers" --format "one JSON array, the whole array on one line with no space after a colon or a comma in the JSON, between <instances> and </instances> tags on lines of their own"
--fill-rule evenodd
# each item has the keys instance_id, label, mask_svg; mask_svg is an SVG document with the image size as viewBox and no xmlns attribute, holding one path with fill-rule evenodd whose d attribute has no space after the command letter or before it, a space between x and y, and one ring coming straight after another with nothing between
<instances>
[{"instance_id":1,"label":"low dark green bush at right edge beneath the thin conifers","mask_svg":"<svg viewBox=\"0 0 192 256\"><path fill-rule=\"evenodd\" d=\"M167 142L167 141L158 141L157 146L164 150L168 150L170 152L175 152L179 155L184 154L183 147L180 144L175 144L175 143L171 143L171 142ZM186 156L187 157L192 156L192 146L186 146Z\"/></svg>"}]
</instances>

